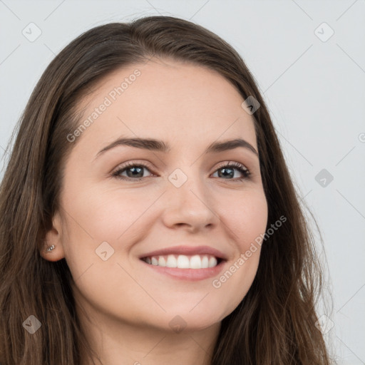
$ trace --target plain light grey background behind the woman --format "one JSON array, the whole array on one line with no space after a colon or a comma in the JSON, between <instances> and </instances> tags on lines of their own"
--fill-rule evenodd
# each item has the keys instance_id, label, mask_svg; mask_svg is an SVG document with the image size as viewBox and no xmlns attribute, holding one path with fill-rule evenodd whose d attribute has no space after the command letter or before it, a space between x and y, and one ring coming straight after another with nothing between
<instances>
[{"instance_id":1,"label":"plain light grey background behind the woman","mask_svg":"<svg viewBox=\"0 0 365 365\"><path fill-rule=\"evenodd\" d=\"M339 364L365 364L364 0L0 0L0 157L56 53L93 26L148 14L195 21L244 58L324 238L334 297L326 339ZM36 35L31 22L41 30L35 41L22 34ZM317 182L322 169L330 183L328 173Z\"/></svg>"}]
</instances>

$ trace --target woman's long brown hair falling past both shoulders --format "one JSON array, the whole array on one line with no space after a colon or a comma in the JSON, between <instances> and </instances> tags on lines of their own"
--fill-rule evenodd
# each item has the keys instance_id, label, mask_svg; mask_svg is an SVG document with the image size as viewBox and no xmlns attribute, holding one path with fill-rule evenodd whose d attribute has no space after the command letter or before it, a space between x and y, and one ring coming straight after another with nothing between
<instances>
[{"instance_id":1,"label":"woman's long brown hair falling past both shoulders","mask_svg":"<svg viewBox=\"0 0 365 365\"><path fill-rule=\"evenodd\" d=\"M257 275L232 314L222 320L212 365L328 365L315 304L322 271L267 107L244 61L229 44L196 24L148 16L97 26L53 59L31 94L14 135L0 187L0 362L80 364L91 354L76 317L65 259L39 254L59 207L63 168L76 142L66 136L80 123L78 103L116 68L159 57L217 71L243 98L253 96L268 227L287 221L262 245ZM34 315L41 328L22 324Z\"/></svg>"}]
</instances>

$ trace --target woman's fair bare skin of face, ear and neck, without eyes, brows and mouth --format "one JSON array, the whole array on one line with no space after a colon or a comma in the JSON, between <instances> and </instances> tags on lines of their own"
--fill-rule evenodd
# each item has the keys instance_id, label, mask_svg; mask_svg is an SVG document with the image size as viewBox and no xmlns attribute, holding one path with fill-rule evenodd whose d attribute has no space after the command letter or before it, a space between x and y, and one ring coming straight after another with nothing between
<instances>
[{"instance_id":1,"label":"woman's fair bare skin of face, ear and neck, without eyes, brows and mouth","mask_svg":"<svg viewBox=\"0 0 365 365\"><path fill-rule=\"evenodd\" d=\"M264 234L267 200L257 155L247 148L203 153L212 142L234 138L257 150L254 121L241 107L242 96L220 74L157 59L104 78L81 102L83 117L136 68L141 72L136 81L73 142L61 210L46 235L56 249L41 255L66 258L78 316L103 364L207 365L220 322L255 278L260 247L219 288L212 286L215 277L174 279L138 257L174 245L208 245L227 255L219 278ZM121 136L164 140L171 150L118 146L96 158ZM245 165L250 179L234 181L243 177L239 170L219 177L217 168L230 161ZM150 166L138 175L143 180L112 176L127 162ZM187 176L181 187L168 180L177 168ZM128 171L122 175L133 176ZM96 255L101 242L114 250L106 261ZM175 316L183 331L170 327ZM83 364L90 362L85 358Z\"/></svg>"}]
</instances>

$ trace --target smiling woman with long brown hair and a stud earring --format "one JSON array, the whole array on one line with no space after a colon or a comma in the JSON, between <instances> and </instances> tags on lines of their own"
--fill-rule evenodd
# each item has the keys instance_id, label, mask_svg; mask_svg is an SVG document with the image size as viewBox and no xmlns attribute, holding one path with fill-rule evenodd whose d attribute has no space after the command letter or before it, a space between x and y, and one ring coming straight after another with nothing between
<instances>
[{"instance_id":1,"label":"smiling woman with long brown hair and a stud earring","mask_svg":"<svg viewBox=\"0 0 365 365\"><path fill-rule=\"evenodd\" d=\"M1 364L329 364L321 271L250 71L150 16L51 62L0 190Z\"/></svg>"}]
</instances>

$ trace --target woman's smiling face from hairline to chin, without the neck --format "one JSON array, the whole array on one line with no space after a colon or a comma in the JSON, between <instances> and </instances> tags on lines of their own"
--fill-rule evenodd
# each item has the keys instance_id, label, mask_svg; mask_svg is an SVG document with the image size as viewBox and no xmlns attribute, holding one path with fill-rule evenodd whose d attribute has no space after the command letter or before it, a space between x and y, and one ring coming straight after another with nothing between
<instances>
[{"instance_id":1,"label":"woman's smiling face from hairline to chin, without the neck","mask_svg":"<svg viewBox=\"0 0 365 365\"><path fill-rule=\"evenodd\" d=\"M214 71L157 60L115 71L83 99L83 127L65 136L74 146L46 237L56 250L43 257L66 258L89 312L196 330L245 297L267 201L242 101ZM161 142L115 143L121 138ZM211 146L237 139L245 143Z\"/></svg>"}]
</instances>

